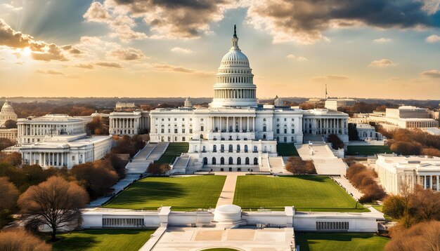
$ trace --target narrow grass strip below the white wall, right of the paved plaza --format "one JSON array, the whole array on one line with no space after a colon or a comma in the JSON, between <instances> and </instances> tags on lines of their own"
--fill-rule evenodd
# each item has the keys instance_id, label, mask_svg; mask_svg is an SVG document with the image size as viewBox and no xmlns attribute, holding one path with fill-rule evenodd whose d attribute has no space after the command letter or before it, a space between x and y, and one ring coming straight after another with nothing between
<instances>
[{"instance_id":1,"label":"narrow grass strip below the white wall, right of the paved plaza","mask_svg":"<svg viewBox=\"0 0 440 251\"><path fill-rule=\"evenodd\" d=\"M373 233L297 233L295 241L301 251L380 251L389 238Z\"/></svg>"}]
</instances>

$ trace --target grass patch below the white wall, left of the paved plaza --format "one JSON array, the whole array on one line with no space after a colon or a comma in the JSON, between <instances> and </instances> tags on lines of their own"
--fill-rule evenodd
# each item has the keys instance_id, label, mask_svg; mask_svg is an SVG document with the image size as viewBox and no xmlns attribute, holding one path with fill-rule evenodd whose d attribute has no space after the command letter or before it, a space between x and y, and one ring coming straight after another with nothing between
<instances>
[{"instance_id":1,"label":"grass patch below the white wall, left of the paved plaza","mask_svg":"<svg viewBox=\"0 0 440 251\"><path fill-rule=\"evenodd\" d=\"M57 235L60 240L53 243L53 251L137 251L154 232L140 229L93 229L60 233Z\"/></svg>"}]
</instances>

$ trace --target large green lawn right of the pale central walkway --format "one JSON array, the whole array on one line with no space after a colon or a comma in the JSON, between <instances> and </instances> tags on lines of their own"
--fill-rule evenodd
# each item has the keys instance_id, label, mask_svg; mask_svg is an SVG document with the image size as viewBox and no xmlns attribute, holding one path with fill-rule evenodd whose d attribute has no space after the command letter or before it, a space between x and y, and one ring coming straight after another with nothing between
<instances>
[{"instance_id":1,"label":"large green lawn right of the pale central walkway","mask_svg":"<svg viewBox=\"0 0 440 251\"><path fill-rule=\"evenodd\" d=\"M243 210L293 205L299 211L368 212L332 179L313 175L238 176L233 203Z\"/></svg>"}]
</instances>

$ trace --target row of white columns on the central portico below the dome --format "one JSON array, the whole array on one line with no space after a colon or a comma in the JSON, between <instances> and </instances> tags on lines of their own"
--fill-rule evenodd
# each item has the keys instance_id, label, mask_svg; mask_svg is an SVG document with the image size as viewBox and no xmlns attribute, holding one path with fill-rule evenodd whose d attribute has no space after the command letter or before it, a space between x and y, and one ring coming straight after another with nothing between
<instances>
[{"instance_id":1,"label":"row of white columns on the central portico below the dome","mask_svg":"<svg viewBox=\"0 0 440 251\"><path fill-rule=\"evenodd\" d=\"M255 117L252 116L212 116L211 118L211 130L232 130L235 133L239 133L242 130L249 132L255 130Z\"/></svg>"}]
</instances>

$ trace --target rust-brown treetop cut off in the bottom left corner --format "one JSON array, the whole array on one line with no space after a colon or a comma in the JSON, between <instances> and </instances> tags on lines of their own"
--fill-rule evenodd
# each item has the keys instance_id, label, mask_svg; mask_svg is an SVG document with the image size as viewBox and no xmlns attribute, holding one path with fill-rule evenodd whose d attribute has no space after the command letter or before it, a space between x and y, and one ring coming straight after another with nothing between
<instances>
[{"instance_id":1,"label":"rust-brown treetop cut off in the bottom left corner","mask_svg":"<svg viewBox=\"0 0 440 251\"><path fill-rule=\"evenodd\" d=\"M27 231L13 229L0 232L0 250L51 251L52 247Z\"/></svg>"}]
</instances>

